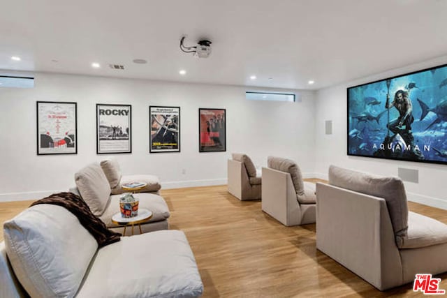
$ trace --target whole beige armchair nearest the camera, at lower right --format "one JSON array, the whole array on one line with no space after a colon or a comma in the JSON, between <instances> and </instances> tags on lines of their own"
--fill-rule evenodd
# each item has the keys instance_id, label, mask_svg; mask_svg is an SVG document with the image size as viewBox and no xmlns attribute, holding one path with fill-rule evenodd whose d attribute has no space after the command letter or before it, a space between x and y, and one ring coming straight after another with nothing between
<instances>
[{"instance_id":1,"label":"whole beige armchair nearest the camera, at lower right","mask_svg":"<svg viewBox=\"0 0 447 298\"><path fill-rule=\"evenodd\" d=\"M379 290L447 271L447 225L409 212L399 178L331 166L316 196L316 248Z\"/></svg>"}]
</instances>

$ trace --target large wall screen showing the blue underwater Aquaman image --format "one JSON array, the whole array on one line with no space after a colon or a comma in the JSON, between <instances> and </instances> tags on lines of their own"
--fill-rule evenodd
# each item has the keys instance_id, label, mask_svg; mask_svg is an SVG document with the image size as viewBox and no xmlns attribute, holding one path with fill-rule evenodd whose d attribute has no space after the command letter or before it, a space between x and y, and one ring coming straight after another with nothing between
<instances>
[{"instance_id":1,"label":"large wall screen showing the blue underwater Aquaman image","mask_svg":"<svg viewBox=\"0 0 447 298\"><path fill-rule=\"evenodd\" d=\"M348 155L447 164L447 66L348 88Z\"/></svg>"}]
</instances>

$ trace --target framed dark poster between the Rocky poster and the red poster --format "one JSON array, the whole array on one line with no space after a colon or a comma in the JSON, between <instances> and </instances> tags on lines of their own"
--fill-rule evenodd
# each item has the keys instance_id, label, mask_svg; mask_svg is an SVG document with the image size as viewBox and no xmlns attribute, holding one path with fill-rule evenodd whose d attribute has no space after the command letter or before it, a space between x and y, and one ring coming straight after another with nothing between
<instances>
[{"instance_id":1,"label":"framed dark poster between the Rocky poster and the red poster","mask_svg":"<svg viewBox=\"0 0 447 298\"><path fill-rule=\"evenodd\" d=\"M180 107L149 107L149 152L180 151Z\"/></svg>"}]
</instances>

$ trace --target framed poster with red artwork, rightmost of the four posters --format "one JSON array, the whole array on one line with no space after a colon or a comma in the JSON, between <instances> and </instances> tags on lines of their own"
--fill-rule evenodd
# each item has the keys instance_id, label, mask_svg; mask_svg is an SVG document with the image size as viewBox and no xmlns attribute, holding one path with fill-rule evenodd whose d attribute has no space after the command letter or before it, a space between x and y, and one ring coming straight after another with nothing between
<instances>
[{"instance_id":1,"label":"framed poster with red artwork, rightmost of the four posters","mask_svg":"<svg viewBox=\"0 0 447 298\"><path fill-rule=\"evenodd\" d=\"M198 109L199 152L226 151L225 109Z\"/></svg>"}]
</instances>

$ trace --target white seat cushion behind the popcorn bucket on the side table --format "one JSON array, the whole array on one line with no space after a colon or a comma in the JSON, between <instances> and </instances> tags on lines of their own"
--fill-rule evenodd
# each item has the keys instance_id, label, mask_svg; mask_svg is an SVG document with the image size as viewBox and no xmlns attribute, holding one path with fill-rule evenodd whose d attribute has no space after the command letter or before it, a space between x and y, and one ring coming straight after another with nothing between
<instances>
[{"instance_id":1,"label":"white seat cushion behind the popcorn bucket on the side table","mask_svg":"<svg viewBox=\"0 0 447 298\"><path fill-rule=\"evenodd\" d=\"M165 200L161 198L159 195L154 195L152 193L134 193L133 196L138 198L138 208L144 208L152 211L152 217L147 221L148 223L152 223L154 221L163 221L166 218L169 218L169 208L166 204ZM104 213L99 216L101 221L105 223L108 228L119 227L115 223L112 223L112 216L119 212L119 198L122 195L111 195L110 196L110 204L107 209L105 209Z\"/></svg>"}]
</instances>

